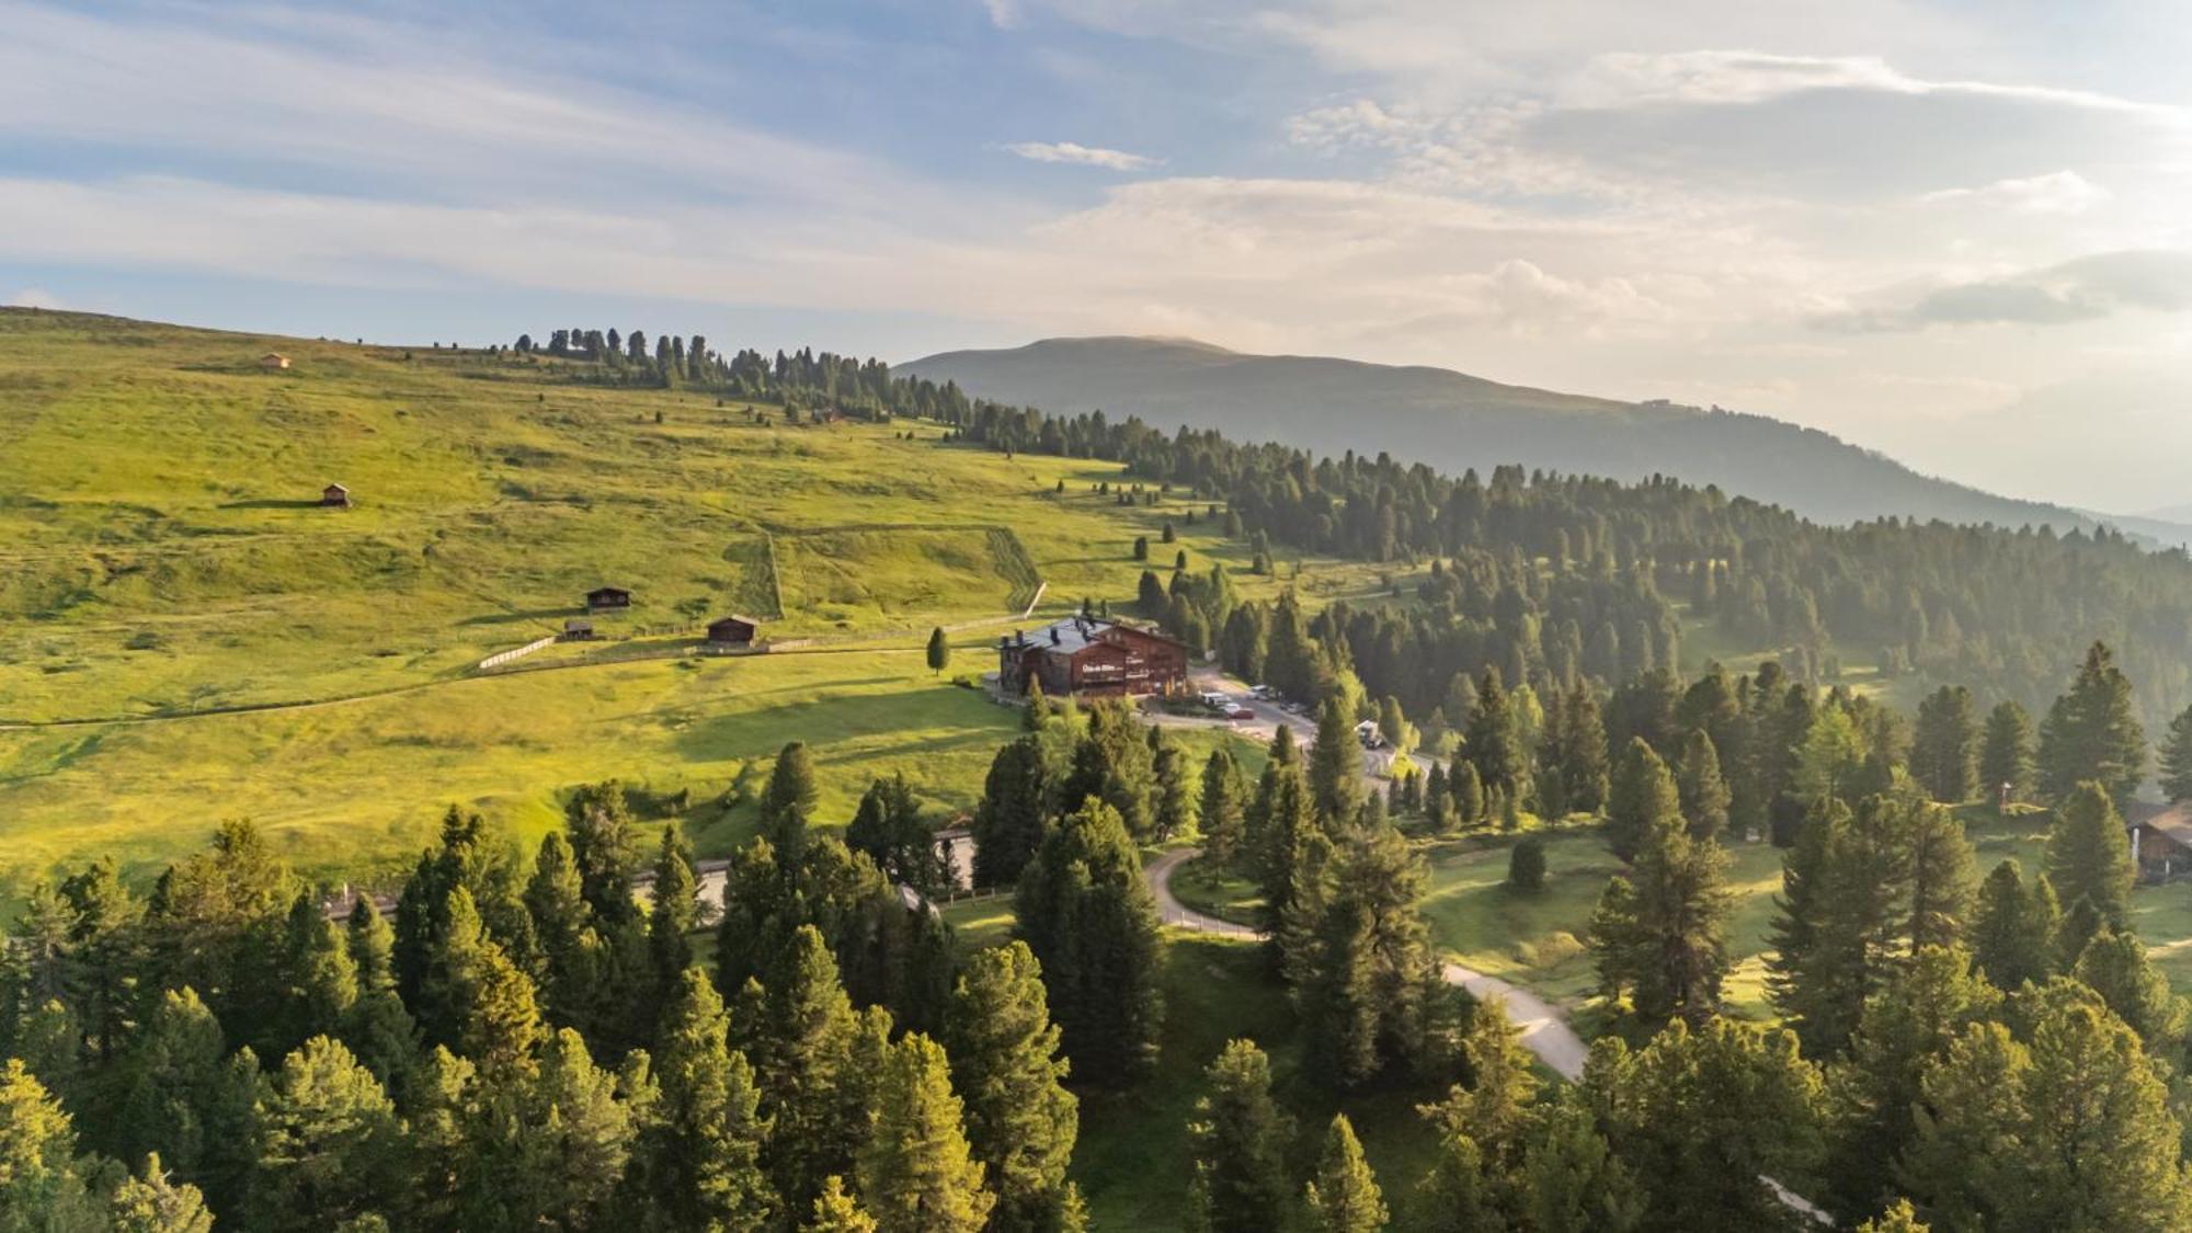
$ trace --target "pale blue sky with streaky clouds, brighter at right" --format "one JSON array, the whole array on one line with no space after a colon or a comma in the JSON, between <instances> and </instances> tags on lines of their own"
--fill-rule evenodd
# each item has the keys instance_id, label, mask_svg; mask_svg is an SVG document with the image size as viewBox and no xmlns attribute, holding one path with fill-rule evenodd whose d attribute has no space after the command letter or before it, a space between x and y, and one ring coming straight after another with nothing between
<instances>
[{"instance_id":1,"label":"pale blue sky with streaky clouds, brighter at right","mask_svg":"<svg viewBox=\"0 0 2192 1233\"><path fill-rule=\"evenodd\" d=\"M1065 333L2192 505L2181 0L0 0L0 303L912 360Z\"/></svg>"}]
</instances>

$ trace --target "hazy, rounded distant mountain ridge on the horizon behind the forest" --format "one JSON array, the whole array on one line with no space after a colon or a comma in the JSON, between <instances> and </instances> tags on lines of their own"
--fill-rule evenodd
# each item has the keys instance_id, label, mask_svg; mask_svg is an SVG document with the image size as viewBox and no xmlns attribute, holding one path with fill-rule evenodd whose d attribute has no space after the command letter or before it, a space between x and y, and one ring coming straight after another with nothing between
<instances>
[{"instance_id":1,"label":"hazy, rounded distant mountain ridge on the horizon behind the forest","mask_svg":"<svg viewBox=\"0 0 2192 1233\"><path fill-rule=\"evenodd\" d=\"M1184 338L1046 338L1004 351L945 351L892 371L1052 412L1100 408L1320 454L1383 450L1451 472L1521 463L1624 480L1668 474L1819 522L1898 513L2060 531L2096 524L2058 505L1922 476L1762 415L1563 395L1449 369L1245 355Z\"/></svg>"}]
</instances>

